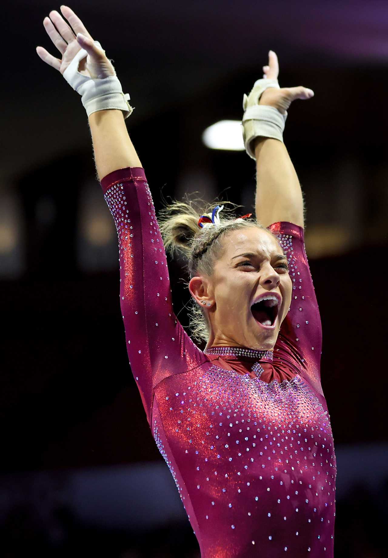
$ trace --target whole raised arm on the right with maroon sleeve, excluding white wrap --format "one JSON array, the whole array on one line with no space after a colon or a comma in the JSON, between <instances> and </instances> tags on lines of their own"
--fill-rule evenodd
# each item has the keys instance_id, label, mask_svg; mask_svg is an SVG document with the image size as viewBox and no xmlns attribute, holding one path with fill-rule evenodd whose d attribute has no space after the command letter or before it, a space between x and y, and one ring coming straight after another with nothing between
<instances>
[{"instance_id":1,"label":"whole raised arm on the right with maroon sleeve, excluding white wrap","mask_svg":"<svg viewBox=\"0 0 388 558\"><path fill-rule=\"evenodd\" d=\"M264 66L263 70L267 78L278 78L278 59L274 52L270 51L269 66ZM269 105L284 114L294 99L308 99L312 95L311 90L302 86L284 89L271 86L261 94L259 104ZM322 328L305 253L302 189L282 141L258 137L254 152L257 169L256 217L277 235L287 255L293 283L290 310L279 331L274 360L294 366L322 393Z\"/></svg>"}]
</instances>

